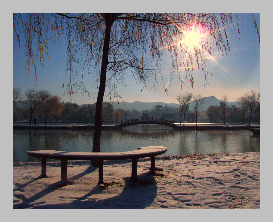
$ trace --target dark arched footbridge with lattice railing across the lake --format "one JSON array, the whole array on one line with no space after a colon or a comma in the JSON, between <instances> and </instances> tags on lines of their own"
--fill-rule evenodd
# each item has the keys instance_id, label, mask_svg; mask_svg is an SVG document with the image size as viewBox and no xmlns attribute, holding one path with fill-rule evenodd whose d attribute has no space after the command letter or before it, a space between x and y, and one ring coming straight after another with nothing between
<instances>
[{"instance_id":1,"label":"dark arched footbridge with lattice railing across the lake","mask_svg":"<svg viewBox=\"0 0 273 222\"><path fill-rule=\"evenodd\" d=\"M141 119L130 119L130 120L121 120L121 124L118 126L126 127L138 124L159 124L164 126L170 126L172 128L175 127L173 120L164 120L162 119L154 119L152 118L141 118Z\"/></svg>"}]
</instances>

